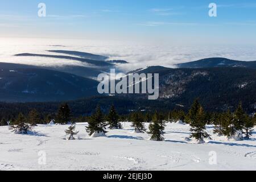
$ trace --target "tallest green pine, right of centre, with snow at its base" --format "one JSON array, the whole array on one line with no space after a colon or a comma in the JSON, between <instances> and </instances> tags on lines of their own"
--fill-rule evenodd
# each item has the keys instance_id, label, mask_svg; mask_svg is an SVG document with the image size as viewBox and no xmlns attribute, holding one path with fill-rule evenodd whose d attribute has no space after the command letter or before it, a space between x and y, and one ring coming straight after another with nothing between
<instances>
[{"instance_id":1,"label":"tallest green pine, right of centre, with snow at its base","mask_svg":"<svg viewBox=\"0 0 256 182\"><path fill-rule=\"evenodd\" d=\"M204 109L199 104L199 100L195 100L191 109L188 112L187 120L191 126L191 138L195 138L200 143L204 142L205 137L209 137L207 132L205 131L205 125L207 121L205 121Z\"/></svg>"}]
</instances>

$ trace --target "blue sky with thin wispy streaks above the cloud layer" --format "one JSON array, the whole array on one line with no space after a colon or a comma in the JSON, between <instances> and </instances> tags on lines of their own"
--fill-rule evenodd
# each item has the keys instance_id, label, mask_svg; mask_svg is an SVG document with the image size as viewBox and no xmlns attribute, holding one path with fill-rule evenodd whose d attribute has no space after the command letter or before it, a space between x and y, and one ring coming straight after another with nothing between
<instances>
[{"instance_id":1,"label":"blue sky with thin wispy streaks above the cloud layer","mask_svg":"<svg viewBox=\"0 0 256 182\"><path fill-rule=\"evenodd\" d=\"M253 44L255 32L253 0L0 0L0 36Z\"/></svg>"}]
</instances>

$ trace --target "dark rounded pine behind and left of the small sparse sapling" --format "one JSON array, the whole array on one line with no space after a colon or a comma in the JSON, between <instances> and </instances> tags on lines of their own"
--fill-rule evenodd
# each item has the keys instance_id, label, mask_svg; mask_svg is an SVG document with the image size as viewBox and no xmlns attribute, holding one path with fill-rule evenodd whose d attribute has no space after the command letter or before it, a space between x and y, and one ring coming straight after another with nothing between
<instances>
[{"instance_id":1,"label":"dark rounded pine behind and left of the small sparse sapling","mask_svg":"<svg viewBox=\"0 0 256 182\"><path fill-rule=\"evenodd\" d=\"M56 115L56 123L60 123L61 125L65 125L71 121L71 110L67 103L62 104L59 107L58 113Z\"/></svg>"}]
</instances>

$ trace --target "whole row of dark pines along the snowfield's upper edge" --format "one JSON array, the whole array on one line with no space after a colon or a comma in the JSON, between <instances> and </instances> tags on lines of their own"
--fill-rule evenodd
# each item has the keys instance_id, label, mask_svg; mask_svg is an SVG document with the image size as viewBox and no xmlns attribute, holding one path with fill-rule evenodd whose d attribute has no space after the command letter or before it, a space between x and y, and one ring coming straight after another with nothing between
<instances>
[{"instance_id":1,"label":"whole row of dark pines along the snowfield's upper edge","mask_svg":"<svg viewBox=\"0 0 256 182\"><path fill-rule=\"evenodd\" d=\"M48 121L50 121L50 117ZM244 135L243 139L249 139L253 134L253 127L256 125L256 117L249 117L243 111L242 104L238 105L236 111L233 113L226 111L225 113L205 113L203 106L200 105L199 100L195 100L191 109L187 114L184 111L171 111L168 113L168 117L164 116L162 113L155 111L154 114L142 114L142 112L134 112L127 117L119 116L115 107L112 106L109 110L108 115L104 115L101 111L101 107L97 106L96 111L86 117L88 122L88 127L86 131L89 135L95 132L106 133L106 127L109 126L110 129L122 129L121 122L130 121L132 127L134 127L135 132L147 132L151 135L152 140L164 140L164 128L167 122L176 122L181 120L188 123L191 126L191 138L195 138L199 141L203 141L204 138L210 137L206 132L207 124L214 124L214 133L218 135L225 135L229 138L235 137L235 135L240 132L240 135ZM5 124L6 120L1 121L1 124ZM148 127L149 131L146 131L144 127L144 122L150 122ZM10 129L16 133L26 134L32 127L39 123L42 123L42 118L40 114L35 109L32 109L27 117L22 113L18 115L16 119L8 121ZM59 107L55 117L55 123L67 124L71 123L71 110L68 104L63 104ZM71 125L66 133L71 136L76 135L75 125Z\"/></svg>"}]
</instances>

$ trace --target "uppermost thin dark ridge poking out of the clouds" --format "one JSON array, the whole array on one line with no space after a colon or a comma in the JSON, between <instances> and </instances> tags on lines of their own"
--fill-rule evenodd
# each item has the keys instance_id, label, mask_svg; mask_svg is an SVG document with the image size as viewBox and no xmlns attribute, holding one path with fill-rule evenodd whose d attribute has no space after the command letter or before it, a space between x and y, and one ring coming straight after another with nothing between
<instances>
[{"instance_id":1,"label":"uppermost thin dark ridge poking out of the clouds","mask_svg":"<svg viewBox=\"0 0 256 182\"><path fill-rule=\"evenodd\" d=\"M49 50L49 52L55 52L55 53L65 53L67 55L73 55L73 56L80 56L85 59L92 59L92 60L99 60L99 61L105 61L109 57L101 56L101 55L94 55L92 53L87 52L79 52L79 51L66 51L66 50Z\"/></svg>"}]
</instances>

